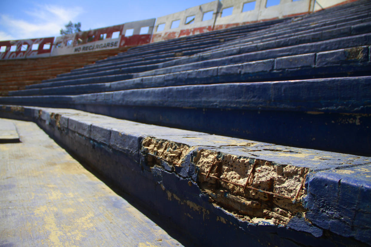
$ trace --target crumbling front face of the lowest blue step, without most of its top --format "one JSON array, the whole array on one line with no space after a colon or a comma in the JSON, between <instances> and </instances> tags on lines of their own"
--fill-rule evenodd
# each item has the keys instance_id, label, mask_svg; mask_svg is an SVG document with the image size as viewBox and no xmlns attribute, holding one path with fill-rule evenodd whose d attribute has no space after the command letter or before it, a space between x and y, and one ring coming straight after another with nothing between
<instances>
[{"instance_id":1,"label":"crumbling front face of the lowest blue step, without most of its top","mask_svg":"<svg viewBox=\"0 0 371 247\"><path fill-rule=\"evenodd\" d=\"M361 184L333 169L313 171L309 167L282 166L269 160L234 157L207 145L187 146L150 135L128 134L115 130L117 123L106 116L94 121L99 115L78 114L79 111L70 109L0 107L1 117L39 124L152 212L179 224L199 244L230 243L230 239L241 244L248 240L253 246L370 243L370 181ZM107 127L109 124L111 128ZM250 166L245 169L247 179L237 178L244 184L234 180L238 171L229 173L231 167L218 165L232 164L233 159L244 159L244 164ZM283 191L274 193L269 188L254 187L250 177L257 166L270 169L269 176L273 171L284 174L279 169L288 167L289 175L295 174L297 178L296 190L275 187ZM370 163L357 167L371 173ZM349 172L347 167L341 168L345 171L343 175ZM229 172L225 173L227 169ZM352 169L355 167L351 166ZM334 181L338 186L332 186ZM246 187L251 189L248 193L244 193ZM244 207L248 204L243 201L246 194L252 199L247 205L251 207ZM283 208L254 211L261 209L264 197L270 201L283 199ZM299 202L299 209L295 206L294 210L287 210L288 200L293 201L292 205ZM348 207L349 203L352 207ZM244 210L252 210L261 217L241 217L246 213Z\"/></svg>"}]
</instances>

